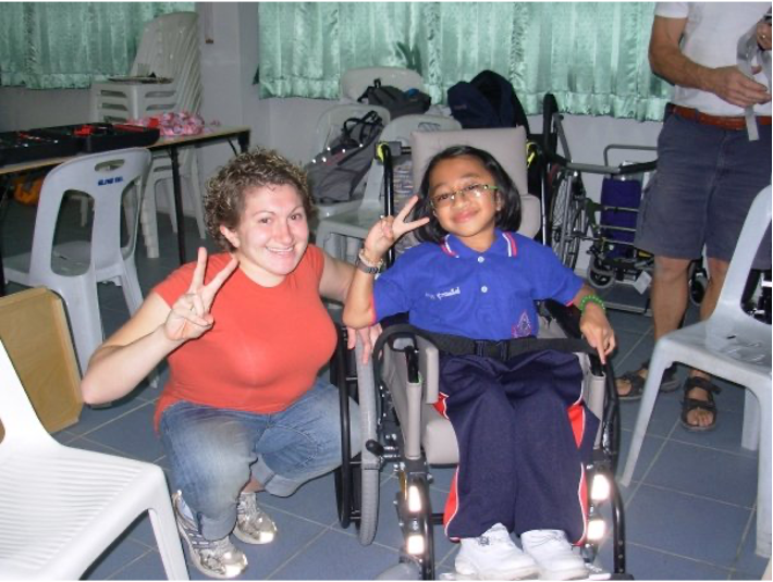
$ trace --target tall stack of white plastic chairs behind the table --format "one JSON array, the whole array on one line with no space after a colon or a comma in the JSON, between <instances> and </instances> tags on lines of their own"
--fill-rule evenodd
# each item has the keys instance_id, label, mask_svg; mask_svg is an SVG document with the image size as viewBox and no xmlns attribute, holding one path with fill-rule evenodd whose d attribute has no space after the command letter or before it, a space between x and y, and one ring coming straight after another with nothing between
<instances>
[{"instance_id":1,"label":"tall stack of white plastic chairs behind the table","mask_svg":"<svg viewBox=\"0 0 773 582\"><path fill-rule=\"evenodd\" d=\"M131 77L156 76L169 83L142 83ZM201 108L201 67L199 57L198 15L195 12L164 14L148 23L130 71L130 79L91 85L94 119L125 122L163 113ZM186 148L180 156L181 176L189 182L189 196L199 236L205 237L201 186L196 150ZM172 228L176 232L172 163L168 156L154 153L154 163L145 186L142 211L143 234L148 257L159 256L156 216L156 185L167 181L167 200Z\"/></svg>"}]
</instances>

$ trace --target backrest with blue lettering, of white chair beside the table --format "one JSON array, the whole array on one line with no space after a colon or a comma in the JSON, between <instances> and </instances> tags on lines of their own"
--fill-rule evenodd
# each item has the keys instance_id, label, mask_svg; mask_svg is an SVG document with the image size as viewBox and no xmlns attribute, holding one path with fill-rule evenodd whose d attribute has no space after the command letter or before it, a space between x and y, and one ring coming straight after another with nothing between
<instances>
[{"instance_id":1,"label":"backrest with blue lettering, of white chair beside the table","mask_svg":"<svg viewBox=\"0 0 773 582\"><path fill-rule=\"evenodd\" d=\"M137 242L142 182L150 168L150 151L144 148L106 151L75 158L54 168L40 190L33 238L30 276L52 274L51 258L57 221L68 191L94 199L94 225L89 270L116 264L132 253ZM127 244L121 246L121 210L126 208ZM57 276L57 273L53 273Z\"/></svg>"}]
</instances>

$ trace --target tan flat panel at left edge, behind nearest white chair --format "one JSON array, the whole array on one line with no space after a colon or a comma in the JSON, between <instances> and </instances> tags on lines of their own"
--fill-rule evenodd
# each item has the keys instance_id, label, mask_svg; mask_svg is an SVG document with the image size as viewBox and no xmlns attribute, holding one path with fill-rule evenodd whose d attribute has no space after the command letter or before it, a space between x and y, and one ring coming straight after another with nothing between
<instances>
[{"instance_id":1,"label":"tan flat panel at left edge, behind nearest white chair","mask_svg":"<svg viewBox=\"0 0 773 582\"><path fill-rule=\"evenodd\" d=\"M0 339L46 430L75 424L83 409L81 374L59 296L35 288L0 297ZM2 434L0 426L0 439Z\"/></svg>"}]
</instances>

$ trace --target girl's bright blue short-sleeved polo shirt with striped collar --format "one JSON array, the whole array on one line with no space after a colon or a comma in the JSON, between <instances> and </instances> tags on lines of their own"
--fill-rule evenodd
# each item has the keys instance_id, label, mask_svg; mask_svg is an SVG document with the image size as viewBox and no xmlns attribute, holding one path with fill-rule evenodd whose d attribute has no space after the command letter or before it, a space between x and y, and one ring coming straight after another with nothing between
<instances>
[{"instance_id":1,"label":"girl's bright blue short-sleeved polo shirt with striped collar","mask_svg":"<svg viewBox=\"0 0 773 582\"><path fill-rule=\"evenodd\" d=\"M536 336L535 301L569 304L581 286L551 248L498 230L484 252L454 235L406 250L376 280L373 301L379 321L407 312L422 330L499 340Z\"/></svg>"}]
</instances>

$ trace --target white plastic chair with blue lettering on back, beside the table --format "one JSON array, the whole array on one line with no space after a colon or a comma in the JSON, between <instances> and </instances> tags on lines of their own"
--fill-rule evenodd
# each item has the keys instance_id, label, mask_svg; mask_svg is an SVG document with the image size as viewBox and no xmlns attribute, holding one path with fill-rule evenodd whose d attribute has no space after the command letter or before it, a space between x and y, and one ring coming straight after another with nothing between
<instances>
[{"instance_id":1,"label":"white plastic chair with blue lettering on back, beside the table","mask_svg":"<svg viewBox=\"0 0 773 582\"><path fill-rule=\"evenodd\" d=\"M82 372L103 339L97 283L111 281L120 285L131 313L143 302L134 251L139 186L149 166L150 152L132 148L75 158L54 168L40 190L32 252L4 259L7 281L48 287L62 297ZM69 191L85 193L94 199L91 239L54 245L62 201ZM122 246L124 207L127 242Z\"/></svg>"}]
</instances>

